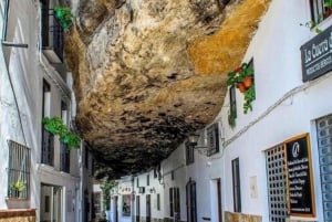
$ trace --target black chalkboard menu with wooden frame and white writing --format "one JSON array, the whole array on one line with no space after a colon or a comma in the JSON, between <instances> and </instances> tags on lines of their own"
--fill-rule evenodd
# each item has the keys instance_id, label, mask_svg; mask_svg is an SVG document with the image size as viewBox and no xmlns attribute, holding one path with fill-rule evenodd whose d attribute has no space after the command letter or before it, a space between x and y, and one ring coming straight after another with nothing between
<instances>
[{"instance_id":1,"label":"black chalkboard menu with wooden frame and white writing","mask_svg":"<svg viewBox=\"0 0 332 222\"><path fill-rule=\"evenodd\" d=\"M309 135L286 141L288 167L288 210L291 215L312 216L315 213Z\"/></svg>"}]
</instances>

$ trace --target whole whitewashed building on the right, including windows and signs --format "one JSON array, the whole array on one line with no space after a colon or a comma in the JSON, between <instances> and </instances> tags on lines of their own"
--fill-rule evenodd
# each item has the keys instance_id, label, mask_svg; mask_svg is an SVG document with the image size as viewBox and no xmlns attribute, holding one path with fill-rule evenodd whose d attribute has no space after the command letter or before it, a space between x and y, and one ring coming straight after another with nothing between
<instances>
[{"instance_id":1,"label":"whole whitewashed building on the right, including windows and signs","mask_svg":"<svg viewBox=\"0 0 332 222\"><path fill-rule=\"evenodd\" d=\"M332 221L329 10L322 0L271 1L242 59L255 70L252 110L243 114L245 94L229 88L197 145L178 147L155 183L148 172L134 177L133 221ZM309 21L320 34L300 25ZM146 210L152 187L160 211Z\"/></svg>"}]
</instances>

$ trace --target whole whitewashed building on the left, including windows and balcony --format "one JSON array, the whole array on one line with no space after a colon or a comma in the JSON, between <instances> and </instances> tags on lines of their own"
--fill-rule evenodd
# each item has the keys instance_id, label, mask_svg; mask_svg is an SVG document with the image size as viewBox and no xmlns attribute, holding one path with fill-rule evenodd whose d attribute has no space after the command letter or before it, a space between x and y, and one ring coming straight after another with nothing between
<instances>
[{"instance_id":1,"label":"whole whitewashed building on the left, including windows and balcony","mask_svg":"<svg viewBox=\"0 0 332 222\"><path fill-rule=\"evenodd\" d=\"M42 125L43 117L58 116L74 131L73 80L63 63L63 29L52 11L60 3L0 2L0 221L90 216L83 203L91 202L92 188L89 178L81 181L86 155L69 151Z\"/></svg>"}]
</instances>

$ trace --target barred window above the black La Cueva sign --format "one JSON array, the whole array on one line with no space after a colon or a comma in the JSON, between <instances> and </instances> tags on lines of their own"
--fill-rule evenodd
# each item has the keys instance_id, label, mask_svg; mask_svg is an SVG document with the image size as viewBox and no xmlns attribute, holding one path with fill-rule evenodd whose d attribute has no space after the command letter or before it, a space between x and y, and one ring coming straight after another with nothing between
<instances>
[{"instance_id":1,"label":"barred window above the black La Cueva sign","mask_svg":"<svg viewBox=\"0 0 332 222\"><path fill-rule=\"evenodd\" d=\"M330 6L329 0L310 0L310 9L311 21L315 24L320 23L332 13L332 6Z\"/></svg>"}]
</instances>

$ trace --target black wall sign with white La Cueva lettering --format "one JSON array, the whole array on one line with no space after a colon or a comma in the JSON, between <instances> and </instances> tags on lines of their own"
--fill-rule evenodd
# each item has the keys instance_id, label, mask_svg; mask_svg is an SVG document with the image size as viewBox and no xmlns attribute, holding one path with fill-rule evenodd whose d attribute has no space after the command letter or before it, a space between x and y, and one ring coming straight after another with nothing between
<instances>
[{"instance_id":1,"label":"black wall sign with white La Cueva lettering","mask_svg":"<svg viewBox=\"0 0 332 222\"><path fill-rule=\"evenodd\" d=\"M332 70L332 27L301 46L301 59L303 82Z\"/></svg>"}]
</instances>

